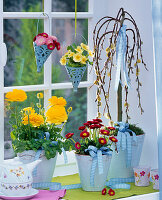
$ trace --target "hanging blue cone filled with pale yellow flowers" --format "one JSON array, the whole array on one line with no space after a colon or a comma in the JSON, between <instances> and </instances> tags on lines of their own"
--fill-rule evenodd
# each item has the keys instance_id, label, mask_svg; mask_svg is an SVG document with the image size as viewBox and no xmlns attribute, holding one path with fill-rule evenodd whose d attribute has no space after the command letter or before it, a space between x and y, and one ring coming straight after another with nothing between
<instances>
[{"instance_id":1,"label":"hanging blue cone filled with pale yellow flowers","mask_svg":"<svg viewBox=\"0 0 162 200\"><path fill-rule=\"evenodd\" d=\"M74 91L77 91L87 65L93 64L88 58L89 56L93 57L93 53L89 50L89 47L83 43L81 43L80 46L74 43L68 46L67 50L68 52L60 59L60 63L66 67Z\"/></svg>"}]
</instances>

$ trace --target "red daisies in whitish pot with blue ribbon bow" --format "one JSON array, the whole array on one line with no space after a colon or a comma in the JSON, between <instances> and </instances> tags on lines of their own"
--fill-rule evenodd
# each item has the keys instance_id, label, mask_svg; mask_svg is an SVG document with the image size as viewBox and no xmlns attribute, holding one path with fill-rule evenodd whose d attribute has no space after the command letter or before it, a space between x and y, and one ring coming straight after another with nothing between
<instances>
[{"instance_id":1,"label":"red daisies in whitish pot with blue ribbon bow","mask_svg":"<svg viewBox=\"0 0 162 200\"><path fill-rule=\"evenodd\" d=\"M75 144L80 181L85 191L102 191L104 188L112 157L111 145L117 142L115 137L109 137L111 130L102 128L101 122L101 119L93 119L79 127L79 142L73 140L74 133L65 135Z\"/></svg>"}]
</instances>

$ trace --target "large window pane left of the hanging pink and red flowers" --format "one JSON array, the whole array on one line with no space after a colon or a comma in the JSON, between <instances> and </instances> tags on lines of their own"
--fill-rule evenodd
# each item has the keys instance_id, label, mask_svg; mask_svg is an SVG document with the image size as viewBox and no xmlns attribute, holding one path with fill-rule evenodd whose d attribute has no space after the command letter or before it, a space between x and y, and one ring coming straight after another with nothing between
<instances>
[{"instance_id":1,"label":"large window pane left of the hanging pink and red flowers","mask_svg":"<svg viewBox=\"0 0 162 200\"><path fill-rule=\"evenodd\" d=\"M4 20L4 42L8 51L7 64L4 68L5 86L43 83L43 70L37 73L33 49L37 21ZM43 20L40 20L39 31L43 32Z\"/></svg>"}]
</instances>

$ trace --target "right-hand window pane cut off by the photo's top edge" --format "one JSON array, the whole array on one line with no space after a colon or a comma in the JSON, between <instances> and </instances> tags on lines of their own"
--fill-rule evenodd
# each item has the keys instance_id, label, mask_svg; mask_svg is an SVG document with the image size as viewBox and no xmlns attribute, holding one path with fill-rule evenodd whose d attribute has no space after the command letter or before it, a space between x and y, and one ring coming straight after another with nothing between
<instances>
[{"instance_id":1,"label":"right-hand window pane cut off by the photo's top edge","mask_svg":"<svg viewBox=\"0 0 162 200\"><path fill-rule=\"evenodd\" d=\"M74 12L75 11L75 0L53 0L52 11L54 12ZM88 12L88 1L79 0L77 2L78 12Z\"/></svg>"}]
</instances>

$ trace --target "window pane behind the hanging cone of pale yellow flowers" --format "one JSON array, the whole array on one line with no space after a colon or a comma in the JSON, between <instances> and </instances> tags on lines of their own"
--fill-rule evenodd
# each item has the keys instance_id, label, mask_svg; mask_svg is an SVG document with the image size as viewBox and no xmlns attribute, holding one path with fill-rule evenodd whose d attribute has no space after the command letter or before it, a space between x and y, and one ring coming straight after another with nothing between
<instances>
[{"instance_id":1,"label":"window pane behind the hanging cone of pale yellow flowers","mask_svg":"<svg viewBox=\"0 0 162 200\"><path fill-rule=\"evenodd\" d=\"M75 38L74 20L53 20L53 35L61 43L61 50L54 50L52 53L52 82L69 82L69 77L64 66L60 64L60 58L67 52L67 46L73 43L88 43L88 20L79 19L77 22L77 36ZM82 81L87 80L87 71L84 73Z\"/></svg>"}]
</instances>

